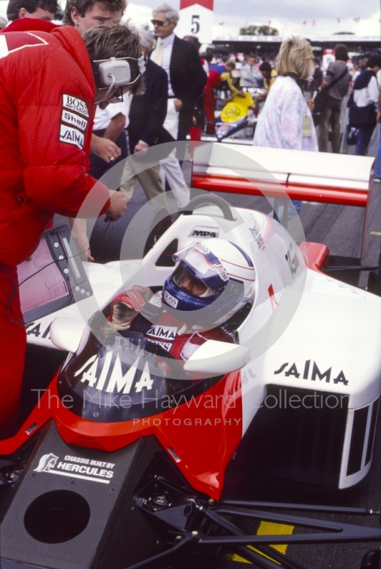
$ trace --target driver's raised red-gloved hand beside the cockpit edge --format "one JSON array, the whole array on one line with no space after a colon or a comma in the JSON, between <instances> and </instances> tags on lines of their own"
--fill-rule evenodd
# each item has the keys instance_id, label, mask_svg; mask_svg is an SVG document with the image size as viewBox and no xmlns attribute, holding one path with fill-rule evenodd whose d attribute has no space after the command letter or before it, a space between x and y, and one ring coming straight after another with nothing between
<instances>
[{"instance_id":1,"label":"driver's raised red-gloved hand beside the cockpit edge","mask_svg":"<svg viewBox=\"0 0 381 569\"><path fill-rule=\"evenodd\" d=\"M139 314L150 297L150 289L135 285L130 290L121 292L113 299L111 312L108 320L111 321L115 330L127 330L132 320Z\"/></svg>"}]
</instances>

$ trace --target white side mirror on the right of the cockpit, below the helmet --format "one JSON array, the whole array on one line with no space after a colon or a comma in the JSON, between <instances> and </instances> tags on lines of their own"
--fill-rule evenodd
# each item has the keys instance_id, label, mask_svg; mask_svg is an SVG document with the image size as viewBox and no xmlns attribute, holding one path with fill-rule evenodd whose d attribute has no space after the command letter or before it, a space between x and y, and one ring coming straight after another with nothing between
<instances>
[{"instance_id":1,"label":"white side mirror on the right of the cockpit, below the helmet","mask_svg":"<svg viewBox=\"0 0 381 569\"><path fill-rule=\"evenodd\" d=\"M184 365L185 371L199 373L229 373L246 366L250 361L250 350L246 346L226 344L216 340L207 340L200 346Z\"/></svg>"}]
</instances>

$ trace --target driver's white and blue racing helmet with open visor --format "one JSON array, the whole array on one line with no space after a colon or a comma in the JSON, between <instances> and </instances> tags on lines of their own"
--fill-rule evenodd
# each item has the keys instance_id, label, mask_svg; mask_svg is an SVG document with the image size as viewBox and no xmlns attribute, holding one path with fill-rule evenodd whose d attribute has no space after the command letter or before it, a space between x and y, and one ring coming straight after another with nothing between
<instances>
[{"instance_id":1,"label":"driver's white and blue racing helmet with open visor","mask_svg":"<svg viewBox=\"0 0 381 569\"><path fill-rule=\"evenodd\" d=\"M226 239L191 243L172 258L177 266L165 281L162 302L184 321L221 324L254 294L251 258ZM185 286L189 280L194 287Z\"/></svg>"}]
</instances>

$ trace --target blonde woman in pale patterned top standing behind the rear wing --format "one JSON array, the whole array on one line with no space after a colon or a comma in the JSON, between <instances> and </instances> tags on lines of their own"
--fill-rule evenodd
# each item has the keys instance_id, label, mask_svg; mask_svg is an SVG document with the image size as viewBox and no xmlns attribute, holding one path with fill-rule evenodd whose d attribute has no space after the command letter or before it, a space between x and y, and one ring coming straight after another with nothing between
<instances>
[{"instance_id":1,"label":"blonde woman in pale patterned top standing behind the rear wing","mask_svg":"<svg viewBox=\"0 0 381 569\"><path fill-rule=\"evenodd\" d=\"M306 102L299 85L300 80L313 74L310 43L297 37L283 41L275 68L278 77L259 114L254 146L318 151L318 139L310 112L313 110L313 101ZM293 204L299 213L302 202L293 200ZM293 214L294 208L288 208L288 216Z\"/></svg>"}]
</instances>

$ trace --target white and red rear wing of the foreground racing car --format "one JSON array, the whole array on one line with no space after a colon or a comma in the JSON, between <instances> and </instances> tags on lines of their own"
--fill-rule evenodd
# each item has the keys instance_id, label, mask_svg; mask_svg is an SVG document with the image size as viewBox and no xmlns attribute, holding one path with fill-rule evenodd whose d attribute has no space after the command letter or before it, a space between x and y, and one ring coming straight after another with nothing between
<instances>
[{"instance_id":1,"label":"white and red rear wing of the foreground racing car","mask_svg":"<svg viewBox=\"0 0 381 569\"><path fill-rule=\"evenodd\" d=\"M274 209L285 191L291 199L366 208L363 258L374 168L370 156L207 143L194 149L192 187L273 198Z\"/></svg>"}]
</instances>

